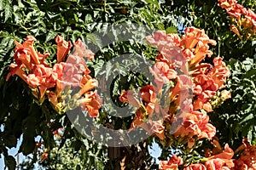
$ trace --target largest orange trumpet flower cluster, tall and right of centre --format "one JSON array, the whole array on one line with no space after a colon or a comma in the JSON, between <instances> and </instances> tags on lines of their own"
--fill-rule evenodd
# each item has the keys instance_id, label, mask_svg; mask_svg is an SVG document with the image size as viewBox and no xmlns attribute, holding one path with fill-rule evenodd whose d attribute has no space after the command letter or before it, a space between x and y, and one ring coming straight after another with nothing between
<instances>
[{"instance_id":1,"label":"largest orange trumpet flower cluster, tall and right of centre","mask_svg":"<svg viewBox=\"0 0 256 170\"><path fill-rule=\"evenodd\" d=\"M160 52L151 68L154 85L140 88L140 99L132 90L119 97L137 107L131 129L143 127L161 140L171 133L174 139L184 139L183 144L189 148L196 139L212 139L216 130L206 112L212 111L213 104L230 97L229 92L220 92L230 75L222 58L213 59L213 65L202 62L212 56L208 44L216 42L195 27L186 28L183 37L156 31L147 41Z\"/></svg>"}]
</instances>

